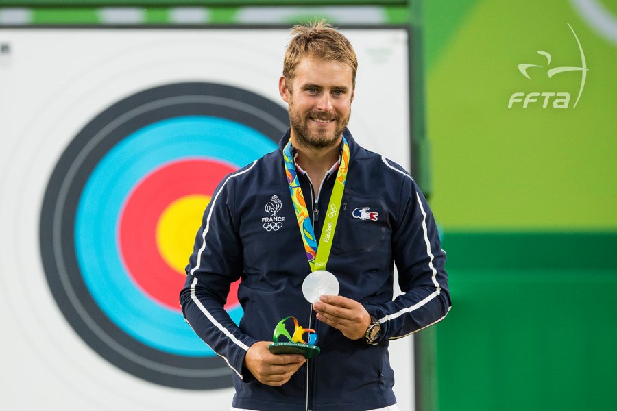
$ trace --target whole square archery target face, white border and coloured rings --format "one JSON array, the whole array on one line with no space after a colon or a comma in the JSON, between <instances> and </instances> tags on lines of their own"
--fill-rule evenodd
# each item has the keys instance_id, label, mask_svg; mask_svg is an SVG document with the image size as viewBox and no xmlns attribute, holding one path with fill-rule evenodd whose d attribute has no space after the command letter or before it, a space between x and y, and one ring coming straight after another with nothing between
<instances>
[{"instance_id":1,"label":"whole square archery target face, white border and coloured rings","mask_svg":"<svg viewBox=\"0 0 617 411\"><path fill-rule=\"evenodd\" d=\"M408 164L407 32L348 36L361 61L350 129ZM25 388L36 384L52 401L76 393L67 409L109 409L113 398L115 408L164 410L205 392L211 409L228 409L232 371L186 325L178 292L217 183L287 129L277 85L288 38L0 32L10 43L0 57L0 319L15 334L3 361L34 371L13 373L15 401L36 401ZM375 105L383 78L400 88ZM226 309L242 315L233 287Z\"/></svg>"}]
</instances>

